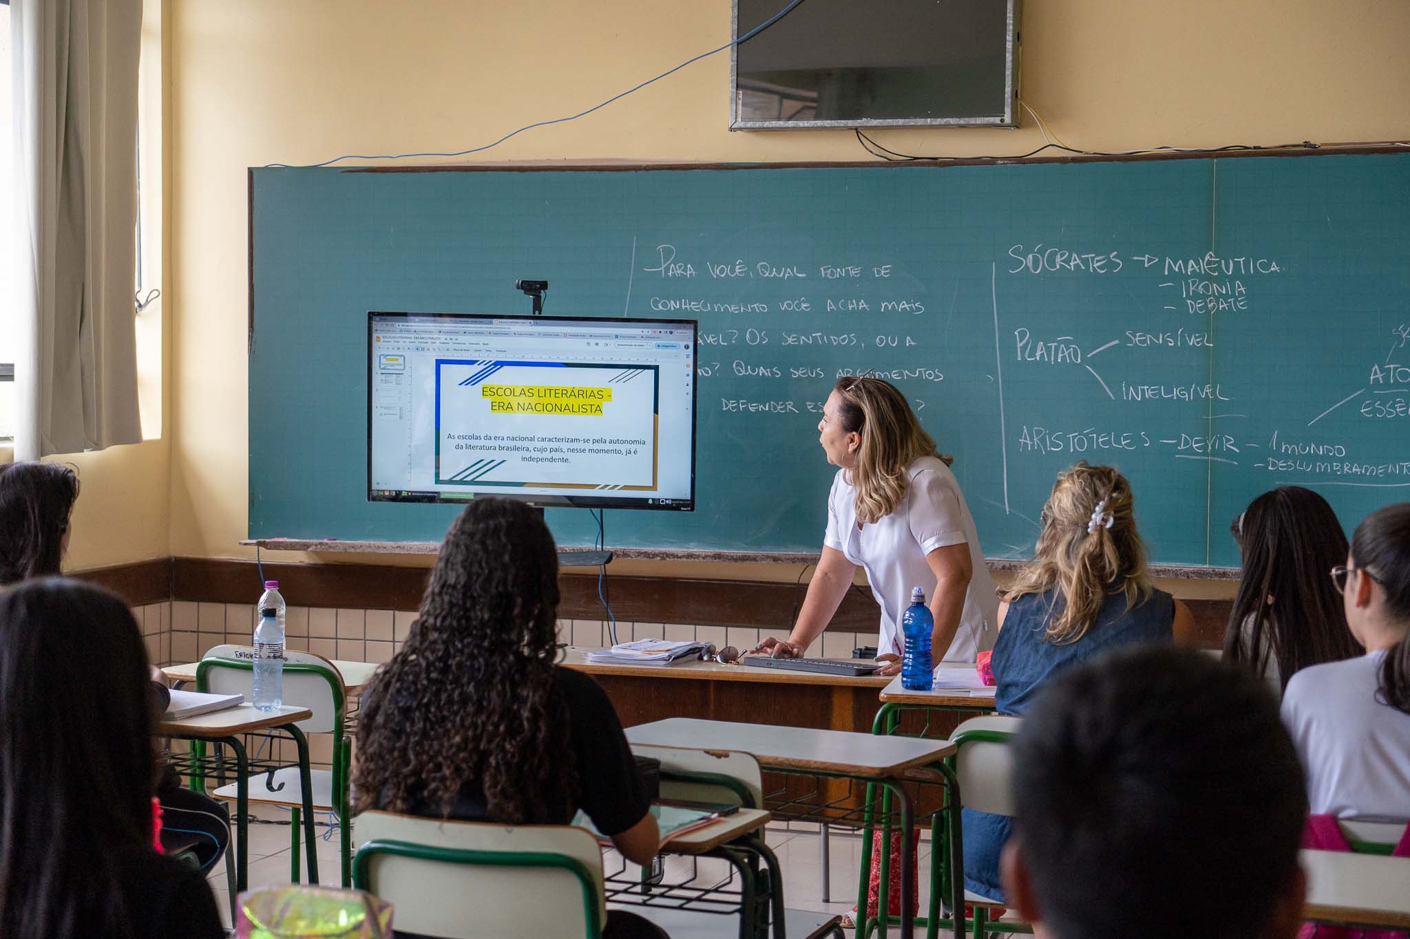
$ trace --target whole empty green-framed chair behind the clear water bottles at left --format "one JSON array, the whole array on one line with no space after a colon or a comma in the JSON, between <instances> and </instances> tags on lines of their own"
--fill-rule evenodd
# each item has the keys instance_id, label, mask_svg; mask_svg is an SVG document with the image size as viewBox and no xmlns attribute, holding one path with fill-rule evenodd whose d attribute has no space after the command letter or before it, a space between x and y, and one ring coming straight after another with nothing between
<instances>
[{"instance_id":1,"label":"whole empty green-framed chair behind the clear water bottles at left","mask_svg":"<svg viewBox=\"0 0 1410 939\"><path fill-rule=\"evenodd\" d=\"M254 662L250 646L224 645L210 649L196 666L196 688L220 694L244 694L247 700L254 691ZM310 652L285 650L283 653L283 702L285 705L309 708L313 717L299 721L305 733L333 735L333 769L313 770L313 807L330 811L338 818L341 836L343 886L352 883L352 833L350 821L348 779L352 741L343 732L347 691L337 666L323 656ZM220 800L235 800L237 783L221 786L213 795ZM300 826L299 814L303 807L303 788L299 784L299 767L285 766L272 773L257 773L248 779L250 801L266 805L283 805L292 811L290 845L292 880L299 881Z\"/></svg>"}]
</instances>

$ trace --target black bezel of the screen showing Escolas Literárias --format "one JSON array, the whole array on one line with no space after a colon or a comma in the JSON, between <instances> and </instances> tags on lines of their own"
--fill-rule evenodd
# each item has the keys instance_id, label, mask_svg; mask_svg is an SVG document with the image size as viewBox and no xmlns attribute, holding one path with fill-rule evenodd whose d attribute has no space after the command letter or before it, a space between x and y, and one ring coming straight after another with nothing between
<instances>
[{"instance_id":1,"label":"black bezel of the screen showing Escolas Liter\u00e1rias","mask_svg":"<svg viewBox=\"0 0 1410 939\"><path fill-rule=\"evenodd\" d=\"M594 324L622 324L632 327L642 327L643 324L661 322L671 327L685 327L691 328L691 372L697 379L697 384L691 389L691 497L687 504L681 504L684 500L670 500L671 504L661 505L657 497L616 497L609 498L605 496L520 496L509 491L496 490L492 493L475 493L467 498L444 498L441 493L437 491L400 491L395 496L378 496L376 490L372 489L372 345L374 345L374 318L375 317L402 317L402 318L436 318L436 320L522 320L526 322L594 322ZM367 313L367 501L369 503L420 503L420 504L443 504L443 505L465 505L475 498L512 498L515 501L527 503L536 508L629 508L629 510L649 510L649 511L668 511L668 512L692 512L695 511L695 434L699 427L698 411L699 411L699 370L698 359L699 356L699 320L666 320L666 318L637 318L637 317L544 317L544 315L513 315L513 314L499 314L499 313L446 313L446 311L403 311L403 310L368 310Z\"/></svg>"}]
</instances>

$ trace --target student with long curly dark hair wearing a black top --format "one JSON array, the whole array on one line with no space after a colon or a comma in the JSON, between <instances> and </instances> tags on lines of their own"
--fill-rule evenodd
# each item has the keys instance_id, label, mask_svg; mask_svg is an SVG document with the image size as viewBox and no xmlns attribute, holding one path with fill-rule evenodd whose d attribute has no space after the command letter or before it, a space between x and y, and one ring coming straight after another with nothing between
<instances>
[{"instance_id":1,"label":"student with long curly dark hair wearing a black top","mask_svg":"<svg viewBox=\"0 0 1410 939\"><path fill-rule=\"evenodd\" d=\"M355 809L567 825L656 856L646 783L608 695L557 666L558 555L523 503L477 498L451 525L402 650L362 695ZM453 679L453 680L451 680ZM403 935L403 933L399 933ZM661 936L613 909L608 936Z\"/></svg>"}]
</instances>

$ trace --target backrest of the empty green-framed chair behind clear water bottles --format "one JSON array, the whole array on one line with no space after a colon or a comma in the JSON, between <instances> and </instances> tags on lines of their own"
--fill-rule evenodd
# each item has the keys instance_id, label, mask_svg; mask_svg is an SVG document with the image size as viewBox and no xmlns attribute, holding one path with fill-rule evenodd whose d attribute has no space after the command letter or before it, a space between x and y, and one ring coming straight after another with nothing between
<instances>
[{"instance_id":1,"label":"backrest of the empty green-framed chair behind clear water bottles","mask_svg":"<svg viewBox=\"0 0 1410 939\"><path fill-rule=\"evenodd\" d=\"M196 688L217 694L244 694L254 690L254 649L251 646L214 646L196 666ZM347 687L337 666L312 652L283 652L283 702L309 708L313 717L299 721L305 733L343 736L343 712Z\"/></svg>"}]
</instances>

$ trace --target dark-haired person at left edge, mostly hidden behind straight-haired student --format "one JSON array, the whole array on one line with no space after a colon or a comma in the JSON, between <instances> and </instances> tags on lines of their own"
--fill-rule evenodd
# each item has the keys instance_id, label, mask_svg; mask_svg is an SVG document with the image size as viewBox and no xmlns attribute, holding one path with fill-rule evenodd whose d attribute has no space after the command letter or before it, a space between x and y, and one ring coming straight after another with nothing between
<instances>
[{"instance_id":1,"label":"dark-haired person at left edge, mostly hidden behind straight-haired student","mask_svg":"<svg viewBox=\"0 0 1410 939\"><path fill-rule=\"evenodd\" d=\"M79 477L70 466L0 466L0 588L59 573L78 497ZM155 667L149 677L152 694L165 707L169 700L165 677ZM172 771L164 771L157 795L162 804L164 831L197 835L192 853L202 870L214 866L230 845L230 809L204 793L182 787Z\"/></svg>"}]
</instances>

